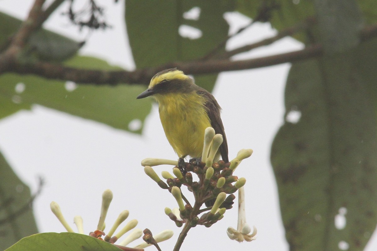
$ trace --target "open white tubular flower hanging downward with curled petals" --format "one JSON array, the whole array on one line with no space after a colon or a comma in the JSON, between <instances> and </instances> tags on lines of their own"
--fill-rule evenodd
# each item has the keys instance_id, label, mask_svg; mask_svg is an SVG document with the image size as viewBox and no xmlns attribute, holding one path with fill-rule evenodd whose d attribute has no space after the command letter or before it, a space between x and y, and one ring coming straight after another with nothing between
<instances>
[{"instance_id":1,"label":"open white tubular flower hanging downward with curled petals","mask_svg":"<svg viewBox=\"0 0 377 251\"><path fill-rule=\"evenodd\" d=\"M253 226L253 232L250 234L251 228L246 223L246 212L245 212L245 191L244 187L238 189L238 224L237 230L232 227L228 227L227 234L231 240L236 240L238 242L243 242L246 240L250 242L255 240L257 234L257 228Z\"/></svg>"}]
</instances>

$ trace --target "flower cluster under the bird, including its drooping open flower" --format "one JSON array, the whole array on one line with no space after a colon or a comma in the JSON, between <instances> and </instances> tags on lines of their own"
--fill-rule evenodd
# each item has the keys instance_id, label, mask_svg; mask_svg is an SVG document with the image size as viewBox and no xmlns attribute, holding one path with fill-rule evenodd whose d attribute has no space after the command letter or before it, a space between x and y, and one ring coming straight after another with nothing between
<instances>
[{"instance_id":1,"label":"flower cluster under the bird, including its drooping open flower","mask_svg":"<svg viewBox=\"0 0 377 251\"><path fill-rule=\"evenodd\" d=\"M236 198L233 193L239 191L239 224L237 230L228 228L227 233L230 239L239 242L254 240L256 228L251 228L246 224L244 208L245 178L234 176L234 170L242 160L248 158L253 153L251 149L242 149L236 158L228 163L220 160L214 162L213 159L222 143L222 135L216 134L213 128L205 130L204 148L200 161L192 159L187 162L147 158L141 162L146 174L152 178L162 189L169 190L177 201L178 208L165 208L165 213L175 222L178 227L189 224L190 227L204 225L210 227L224 217L226 210L233 207ZM173 165L173 175L170 172L162 171L161 180L152 166L161 164ZM198 177L198 181L193 180L193 175ZM190 202L183 195L182 186L193 193L195 202ZM208 207L202 208L206 204ZM241 208L241 209L240 209ZM240 211L241 210L241 211Z\"/></svg>"}]
</instances>

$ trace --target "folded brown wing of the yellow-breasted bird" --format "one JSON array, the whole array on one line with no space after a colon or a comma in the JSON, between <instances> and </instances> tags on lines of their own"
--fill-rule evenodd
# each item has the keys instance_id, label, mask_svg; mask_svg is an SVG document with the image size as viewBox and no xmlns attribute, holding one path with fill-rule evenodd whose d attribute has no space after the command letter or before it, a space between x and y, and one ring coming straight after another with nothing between
<instances>
[{"instance_id":1,"label":"folded brown wing of the yellow-breasted bird","mask_svg":"<svg viewBox=\"0 0 377 251\"><path fill-rule=\"evenodd\" d=\"M228 143L227 143L227 136L225 136L224 126L222 125L221 117L220 117L220 110L221 107L219 106L218 102L216 101L215 97L207 90L198 87L196 91L199 95L205 96L208 99L205 106L207 107L207 114L209 119L211 120L211 126L215 129L216 134L222 135L222 144L220 146L220 154L222 160L225 163L229 162L228 160Z\"/></svg>"}]
</instances>

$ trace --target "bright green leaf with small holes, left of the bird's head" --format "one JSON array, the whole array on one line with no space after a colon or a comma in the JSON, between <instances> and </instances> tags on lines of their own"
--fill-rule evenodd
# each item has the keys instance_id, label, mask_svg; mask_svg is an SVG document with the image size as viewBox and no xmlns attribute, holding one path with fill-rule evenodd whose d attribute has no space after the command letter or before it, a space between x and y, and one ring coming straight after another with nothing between
<instances>
[{"instance_id":1,"label":"bright green leaf with small holes, left of the bird's head","mask_svg":"<svg viewBox=\"0 0 377 251\"><path fill-rule=\"evenodd\" d=\"M106 61L85 56L75 56L67 61L66 65L102 70L119 69ZM23 86L25 90L17 92L17 85ZM69 91L69 86L74 90ZM115 87L75 85L34 75L9 73L0 76L0 115L6 116L18 109L39 104L130 131L129 123L132 120L144 121L150 112L150 102L136 101L136 97L144 89L142 86L122 84ZM140 133L141 129L132 131Z\"/></svg>"}]
</instances>

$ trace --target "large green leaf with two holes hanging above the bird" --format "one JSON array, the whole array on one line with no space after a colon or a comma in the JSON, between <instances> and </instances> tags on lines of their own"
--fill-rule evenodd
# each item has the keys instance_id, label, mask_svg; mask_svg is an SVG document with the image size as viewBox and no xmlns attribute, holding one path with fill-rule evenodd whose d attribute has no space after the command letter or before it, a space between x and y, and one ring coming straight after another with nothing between
<instances>
[{"instance_id":1,"label":"large green leaf with two holes hanging above the bird","mask_svg":"<svg viewBox=\"0 0 377 251\"><path fill-rule=\"evenodd\" d=\"M185 19L184 12L200 8L198 20ZM215 49L228 35L229 25L223 15L233 11L233 1L126 1L127 33L138 68L167 62L201 58ZM182 25L201 32L190 39L179 35ZM221 48L224 50L224 47ZM196 78L196 84L212 90L217 75Z\"/></svg>"}]
</instances>

